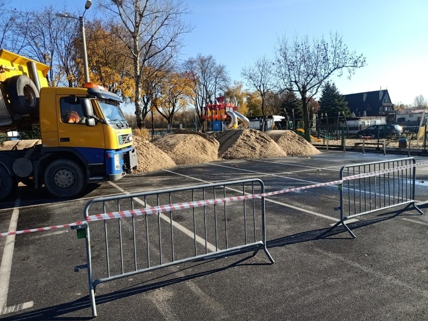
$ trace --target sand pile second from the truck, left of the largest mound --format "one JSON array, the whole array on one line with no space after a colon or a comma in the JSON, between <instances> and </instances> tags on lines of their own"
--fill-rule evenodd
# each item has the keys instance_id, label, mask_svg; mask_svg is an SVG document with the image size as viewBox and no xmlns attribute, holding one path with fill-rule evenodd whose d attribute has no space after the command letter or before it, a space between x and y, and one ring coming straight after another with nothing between
<instances>
[{"instance_id":1,"label":"sand pile second from the truck, left of the largest mound","mask_svg":"<svg viewBox=\"0 0 428 321\"><path fill-rule=\"evenodd\" d=\"M220 145L213 137L191 131L177 131L157 138L153 144L168 154L177 165L217 160Z\"/></svg>"}]
</instances>

